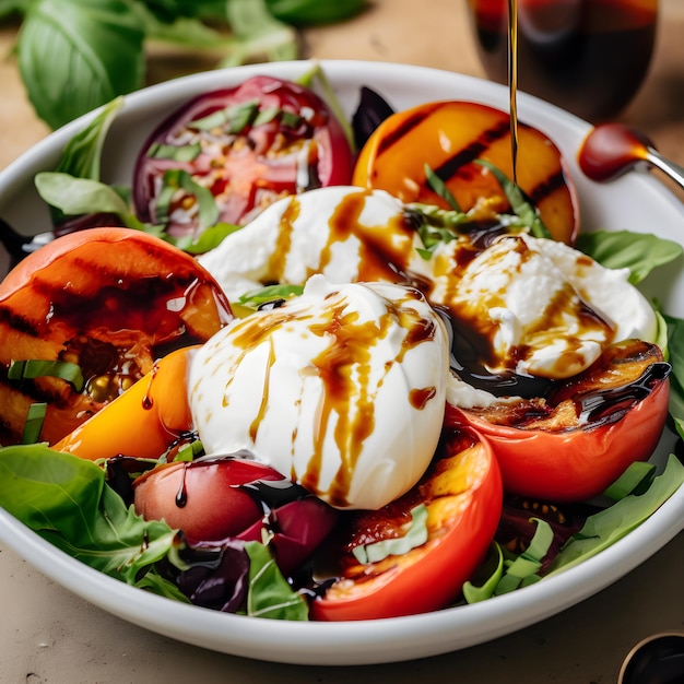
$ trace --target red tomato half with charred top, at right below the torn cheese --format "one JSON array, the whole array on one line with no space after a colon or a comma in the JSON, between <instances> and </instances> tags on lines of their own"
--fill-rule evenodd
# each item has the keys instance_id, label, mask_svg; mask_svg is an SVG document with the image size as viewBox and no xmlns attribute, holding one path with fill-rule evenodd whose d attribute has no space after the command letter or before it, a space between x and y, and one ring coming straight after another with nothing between
<instances>
[{"instance_id":1,"label":"red tomato half with charred top, at right below the torn cheese","mask_svg":"<svg viewBox=\"0 0 684 684\"><path fill-rule=\"evenodd\" d=\"M668 374L656 345L629 341L609 347L547 402L530 405L532 422L516 403L483 411L447 404L445 421L491 444L507 492L581 502L651 456L668 415Z\"/></svg>"}]
</instances>

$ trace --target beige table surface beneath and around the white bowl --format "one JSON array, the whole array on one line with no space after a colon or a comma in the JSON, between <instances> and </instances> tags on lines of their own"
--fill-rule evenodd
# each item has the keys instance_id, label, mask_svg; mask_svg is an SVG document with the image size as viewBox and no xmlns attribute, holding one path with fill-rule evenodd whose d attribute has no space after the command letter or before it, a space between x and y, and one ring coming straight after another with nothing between
<instances>
[{"instance_id":1,"label":"beige table surface beneath and around the white bowl","mask_svg":"<svg viewBox=\"0 0 684 684\"><path fill-rule=\"evenodd\" d=\"M483 75L465 0L374 0L345 24L307 31L306 56L422 64ZM26 102L10 49L16 26L0 24L0 168L48 130ZM649 76L622 116L684 164L684 2L661 0ZM160 81L209 68L168 52L151 58ZM0 683L296 682L331 684L458 681L609 684L630 647L651 633L684 629L684 535L582 603L467 650L405 663L317 668L257 662L179 644L74 597L0 545Z\"/></svg>"}]
</instances>

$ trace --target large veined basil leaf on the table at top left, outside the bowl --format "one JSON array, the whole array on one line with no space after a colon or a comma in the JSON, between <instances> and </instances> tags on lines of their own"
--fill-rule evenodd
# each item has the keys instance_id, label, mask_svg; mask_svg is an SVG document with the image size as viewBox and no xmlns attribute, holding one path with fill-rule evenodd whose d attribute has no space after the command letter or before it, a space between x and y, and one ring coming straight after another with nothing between
<instances>
[{"instance_id":1,"label":"large veined basil leaf on the table at top left, outside the bowl","mask_svg":"<svg viewBox=\"0 0 684 684\"><path fill-rule=\"evenodd\" d=\"M36 114L51 128L143 85L144 33L123 0L36 0L17 59Z\"/></svg>"}]
</instances>

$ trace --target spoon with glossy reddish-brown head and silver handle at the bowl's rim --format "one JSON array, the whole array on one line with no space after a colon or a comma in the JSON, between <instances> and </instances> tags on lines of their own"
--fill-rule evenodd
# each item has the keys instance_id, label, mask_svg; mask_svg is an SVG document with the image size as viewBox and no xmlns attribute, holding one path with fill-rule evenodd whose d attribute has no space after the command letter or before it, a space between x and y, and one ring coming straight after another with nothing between
<instances>
[{"instance_id":1,"label":"spoon with glossy reddish-brown head and silver handle at the bowl's rim","mask_svg":"<svg viewBox=\"0 0 684 684\"><path fill-rule=\"evenodd\" d=\"M684 167L667 160L640 131L624 123L601 123L581 144L579 166L592 180L613 180L639 163L659 168L684 188Z\"/></svg>"}]
</instances>

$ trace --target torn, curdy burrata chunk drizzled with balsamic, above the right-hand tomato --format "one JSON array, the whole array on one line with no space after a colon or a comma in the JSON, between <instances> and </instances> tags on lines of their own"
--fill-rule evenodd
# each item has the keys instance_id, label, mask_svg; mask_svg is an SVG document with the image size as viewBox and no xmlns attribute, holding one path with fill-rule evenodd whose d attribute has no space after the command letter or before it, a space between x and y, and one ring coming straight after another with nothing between
<instances>
[{"instance_id":1,"label":"torn, curdy burrata chunk drizzled with balsamic, above the right-hand tomato","mask_svg":"<svg viewBox=\"0 0 684 684\"><path fill-rule=\"evenodd\" d=\"M652 307L628 275L563 243L521 234L498 238L464 268L440 269L431 300L490 340L492 372L568 378L612 342L654 339Z\"/></svg>"}]
</instances>

